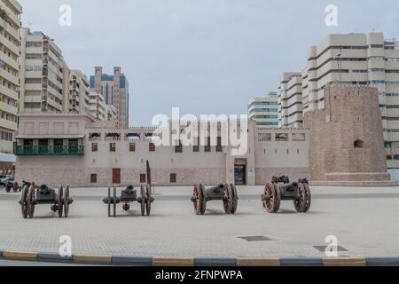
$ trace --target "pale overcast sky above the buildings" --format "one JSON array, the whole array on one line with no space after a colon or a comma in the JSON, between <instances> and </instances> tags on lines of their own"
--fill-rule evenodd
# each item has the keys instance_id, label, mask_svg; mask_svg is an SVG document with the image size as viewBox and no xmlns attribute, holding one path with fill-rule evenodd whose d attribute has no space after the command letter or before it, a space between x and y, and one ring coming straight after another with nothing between
<instances>
[{"instance_id":1,"label":"pale overcast sky above the buildings","mask_svg":"<svg viewBox=\"0 0 399 284\"><path fill-rule=\"evenodd\" d=\"M154 114L246 114L250 99L301 71L310 45L331 33L383 31L399 38L397 0L19 0L22 22L51 36L70 68L120 66L130 124ZM72 7L72 27L59 6ZM335 4L339 26L325 25Z\"/></svg>"}]
</instances>

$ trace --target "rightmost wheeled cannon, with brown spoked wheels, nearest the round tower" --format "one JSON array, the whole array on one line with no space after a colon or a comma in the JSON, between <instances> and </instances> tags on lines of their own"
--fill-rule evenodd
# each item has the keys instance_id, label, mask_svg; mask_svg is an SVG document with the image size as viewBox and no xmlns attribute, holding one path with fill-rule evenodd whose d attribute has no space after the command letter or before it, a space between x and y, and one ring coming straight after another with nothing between
<instances>
[{"instance_id":1,"label":"rightmost wheeled cannon, with brown spoked wheels, nearest the round tower","mask_svg":"<svg viewBox=\"0 0 399 284\"><path fill-rule=\"evenodd\" d=\"M262 205L269 213L278 213L281 201L293 201L293 206L299 213L306 213L310 209L311 193L307 178L290 183L289 177L272 177L262 194Z\"/></svg>"}]
</instances>

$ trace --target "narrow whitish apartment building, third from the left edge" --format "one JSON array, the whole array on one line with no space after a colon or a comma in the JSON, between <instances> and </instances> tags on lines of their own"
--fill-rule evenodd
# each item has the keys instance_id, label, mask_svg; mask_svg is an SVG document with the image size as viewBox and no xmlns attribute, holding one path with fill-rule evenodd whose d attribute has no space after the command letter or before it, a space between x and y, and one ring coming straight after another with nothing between
<instances>
[{"instance_id":1,"label":"narrow whitish apartment building, third from the left edge","mask_svg":"<svg viewBox=\"0 0 399 284\"><path fill-rule=\"evenodd\" d=\"M90 114L90 83L80 70L71 70L69 77L68 112Z\"/></svg>"}]
</instances>

